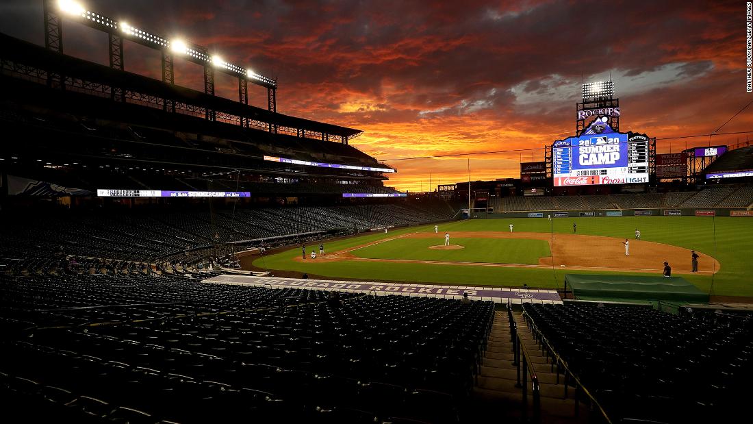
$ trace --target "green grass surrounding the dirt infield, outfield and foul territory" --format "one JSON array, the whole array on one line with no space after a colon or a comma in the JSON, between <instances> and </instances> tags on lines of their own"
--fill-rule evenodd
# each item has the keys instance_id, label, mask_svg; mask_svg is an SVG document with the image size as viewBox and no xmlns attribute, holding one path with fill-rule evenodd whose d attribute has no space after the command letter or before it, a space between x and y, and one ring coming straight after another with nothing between
<instances>
[{"instance_id":1,"label":"green grass surrounding the dirt infield, outfield and foul territory","mask_svg":"<svg viewBox=\"0 0 753 424\"><path fill-rule=\"evenodd\" d=\"M683 275L683 277L700 288L700 290L706 292L709 292L713 281L711 294L753 296L753 218L641 216L553 218L553 221L548 221L546 218L501 218L454 221L440 224L439 229L441 232L509 231L508 225L514 224L516 232L549 233L553 230L554 233L572 233L573 222L578 225L578 234L633 239L633 232L637 227L641 230L642 240L681 246L711 255L721 263L721 271L713 276L713 280L712 276L703 275ZM403 228L387 234L368 233L364 236L337 240L325 243L325 251L337 252L342 249L361 246L365 243L416 231L433 232L434 225ZM474 243L480 240L483 239L475 239ZM495 240L496 243L501 241L500 239L490 240ZM457 239L451 239L450 241L451 243L458 242ZM518 241L520 242L521 240ZM392 242L382 244L389 246L390 243ZM572 247L572 249L583 249L584 251L588 248L589 246ZM365 249L360 249L358 252L353 253L365 255L361 252L363 250ZM423 253L422 251L421 254ZM368 254L368 251L366 254ZM564 274L568 272L559 269L483 267L473 265L377 263L370 261L336 261L325 263L310 260L305 262L292 260L299 255L300 247L276 253L275 255L269 255L265 258L259 258L254 261L254 265L270 270L293 270L300 273L343 279L435 282L455 285L520 286L523 283L527 283L533 287L541 288L562 288ZM380 258L384 257L380 256ZM658 260L660 258L657 258ZM687 261L690 261L689 257ZM607 272L578 271L578 273L604 274ZM660 273L660 270L657 269L657 273ZM636 273L635 275L646 274Z\"/></svg>"}]
</instances>

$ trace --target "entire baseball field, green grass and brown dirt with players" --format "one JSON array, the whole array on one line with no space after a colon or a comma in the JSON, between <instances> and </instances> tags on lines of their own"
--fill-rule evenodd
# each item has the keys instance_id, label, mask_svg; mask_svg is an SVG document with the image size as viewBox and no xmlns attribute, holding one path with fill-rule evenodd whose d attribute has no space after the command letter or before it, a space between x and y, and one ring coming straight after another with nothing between
<instances>
[{"instance_id":1,"label":"entire baseball field, green grass and brown dirt with players","mask_svg":"<svg viewBox=\"0 0 753 424\"><path fill-rule=\"evenodd\" d=\"M661 275L668 261L672 275L712 295L751 297L751 240L753 220L738 217L473 219L439 224L438 233L431 224L331 240L316 259L309 253L319 254L318 244L306 246L306 259L298 246L252 264L334 279L562 288L566 273Z\"/></svg>"}]
</instances>

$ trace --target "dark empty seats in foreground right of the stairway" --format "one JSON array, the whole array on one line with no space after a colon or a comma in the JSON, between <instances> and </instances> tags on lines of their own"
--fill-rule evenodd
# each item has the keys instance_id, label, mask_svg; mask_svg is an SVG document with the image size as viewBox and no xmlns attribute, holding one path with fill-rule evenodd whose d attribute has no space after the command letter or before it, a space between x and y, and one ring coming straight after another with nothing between
<instances>
[{"instance_id":1,"label":"dark empty seats in foreground right of the stairway","mask_svg":"<svg viewBox=\"0 0 753 424\"><path fill-rule=\"evenodd\" d=\"M598 304L524 304L523 310L613 419L741 416L736 411L745 407L753 376L749 320L715 323Z\"/></svg>"}]
</instances>

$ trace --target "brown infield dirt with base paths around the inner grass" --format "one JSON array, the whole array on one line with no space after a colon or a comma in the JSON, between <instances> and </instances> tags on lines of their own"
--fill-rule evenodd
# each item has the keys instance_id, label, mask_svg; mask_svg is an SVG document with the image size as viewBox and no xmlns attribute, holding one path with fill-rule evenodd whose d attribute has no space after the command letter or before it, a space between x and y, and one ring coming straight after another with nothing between
<instances>
[{"instance_id":1,"label":"brown infield dirt with base paths around the inner grass","mask_svg":"<svg viewBox=\"0 0 753 424\"><path fill-rule=\"evenodd\" d=\"M672 274L691 273L691 250L678 246L654 243L644 240L628 239L630 242L630 255L625 255L625 239L603 236L587 236L581 234L562 233L508 233L504 231L450 231L450 242L453 238L469 239L536 239L549 243L552 256L538 259L538 265L528 264L492 264L486 262L468 261L413 261L409 259L368 259L358 258L352 252L367 246L380 243L388 243L395 239L437 239L437 246L429 249L462 249L456 246L443 246L444 234L436 233L408 233L389 239L381 239L377 242L366 243L340 252L333 252L317 257L306 258L306 261L334 262L334 261L371 261L371 262L399 262L417 264L449 264L459 266L483 266L483 267L521 267L521 268L548 268L554 267L566 270L604 270L613 272L636 272L636 273L661 273L664 261L669 262ZM711 275L717 273L721 264L709 255L697 252L698 273ZM303 261L300 256L293 258L294 261ZM562 267L564 265L564 267Z\"/></svg>"}]
</instances>

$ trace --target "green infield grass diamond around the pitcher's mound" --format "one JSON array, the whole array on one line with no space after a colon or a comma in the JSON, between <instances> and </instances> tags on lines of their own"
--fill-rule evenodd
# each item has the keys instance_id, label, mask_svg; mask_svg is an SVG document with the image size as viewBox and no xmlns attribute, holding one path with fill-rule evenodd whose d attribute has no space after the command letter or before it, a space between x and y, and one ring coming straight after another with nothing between
<instances>
[{"instance_id":1,"label":"green infield grass diamond around the pitcher's mound","mask_svg":"<svg viewBox=\"0 0 753 424\"><path fill-rule=\"evenodd\" d=\"M488 264L538 264L538 258L550 256L549 243L532 239L468 239L453 237L456 250L434 250L444 245L444 236L431 239L393 239L352 250L359 258L408 259L411 261L478 262Z\"/></svg>"}]
</instances>

